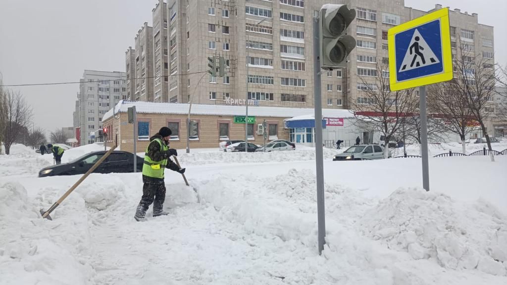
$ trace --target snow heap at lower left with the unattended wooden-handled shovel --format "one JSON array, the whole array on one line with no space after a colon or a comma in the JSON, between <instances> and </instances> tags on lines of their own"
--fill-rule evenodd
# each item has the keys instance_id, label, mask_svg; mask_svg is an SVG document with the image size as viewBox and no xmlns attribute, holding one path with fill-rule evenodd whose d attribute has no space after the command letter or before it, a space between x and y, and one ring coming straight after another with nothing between
<instances>
[{"instance_id":1,"label":"snow heap at lower left with the unattended wooden-handled shovel","mask_svg":"<svg viewBox=\"0 0 507 285\"><path fill-rule=\"evenodd\" d=\"M0 185L2 284L88 283L93 270L86 217L77 217L82 211L69 216L57 222L42 219L23 186Z\"/></svg>"}]
</instances>

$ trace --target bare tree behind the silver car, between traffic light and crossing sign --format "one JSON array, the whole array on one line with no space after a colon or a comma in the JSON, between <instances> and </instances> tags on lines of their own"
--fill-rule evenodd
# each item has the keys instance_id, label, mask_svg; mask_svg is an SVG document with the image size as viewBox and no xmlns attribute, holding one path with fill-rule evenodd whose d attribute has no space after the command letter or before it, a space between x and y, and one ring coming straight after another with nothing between
<instances>
[{"instance_id":1,"label":"bare tree behind the silver car, between traffic light and crossing sign","mask_svg":"<svg viewBox=\"0 0 507 285\"><path fill-rule=\"evenodd\" d=\"M385 137L384 157L388 158L389 140L402 126L403 118L417 111L418 98L414 89L390 91L388 66L377 62L377 68L369 70L372 82L360 76L358 89L363 90L352 102L358 124L369 131L379 131Z\"/></svg>"}]
</instances>

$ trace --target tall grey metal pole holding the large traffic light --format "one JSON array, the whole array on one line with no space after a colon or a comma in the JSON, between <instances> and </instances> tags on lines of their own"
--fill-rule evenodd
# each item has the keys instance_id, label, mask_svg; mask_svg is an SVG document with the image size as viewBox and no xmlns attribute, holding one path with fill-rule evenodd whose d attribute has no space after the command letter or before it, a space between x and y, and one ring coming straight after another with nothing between
<instances>
[{"instance_id":1,"label":"tall grey metal pole holding the large traffic light","mask_svg":"<svg viewBox=\"0 0 507 285\"><path fill-rule=\"evenodd\" d=\"M324 158L322 150L322 94L320 86L319 19L313 18L313 93L315 96L315 168L317 179L318 253L325 243Z\"/></svg>"}]
</instances>

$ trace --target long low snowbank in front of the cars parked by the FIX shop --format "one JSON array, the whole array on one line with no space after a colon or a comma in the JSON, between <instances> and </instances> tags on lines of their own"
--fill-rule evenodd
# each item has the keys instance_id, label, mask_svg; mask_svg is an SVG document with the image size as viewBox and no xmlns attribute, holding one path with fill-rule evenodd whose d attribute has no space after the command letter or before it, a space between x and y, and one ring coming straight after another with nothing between
<instances>
[{"instance_id":1,"label":"long low snowbank in front of the cars parked by the FIX shop","mask_svg":"<svg viewBox=\"0 0 507 285\"><path fill-rule=\"evenodd\" d=\"M333 156L341 150L323 150L324 159L333 159ZM294 151L278 152L198 152L186 154L179 152L178 160L182 166L202 165L210 163L263 163L263 162L286 162L286 161L307 161L315 160L314 148L303 148Z\"/></svg>"}]
</instances>

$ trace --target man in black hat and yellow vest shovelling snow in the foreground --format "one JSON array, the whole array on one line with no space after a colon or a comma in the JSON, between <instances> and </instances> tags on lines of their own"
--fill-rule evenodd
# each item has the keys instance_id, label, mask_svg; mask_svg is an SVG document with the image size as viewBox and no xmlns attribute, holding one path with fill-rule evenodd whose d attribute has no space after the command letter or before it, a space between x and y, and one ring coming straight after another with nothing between
<instances>
[{"instance_id":1,"label":"man in black hat and yellow vest shovelling snow in the foreground","mask_svg":"<svg viewBox=\"0 0 507 285\"><path fill-rule=\"evenodd\" d=\"M169 158L177 156L175 149L169 149L171 130L162 127L158 133L150 137L150 144L144 153L142 166L142 197L135 211L135 220L144 221L146 211L153 203L153 217L167 215L163 210L165 200L164 169L169 168L178 173L185 173L185 168L179 168Z\"/></svg>"}]
</instances>

